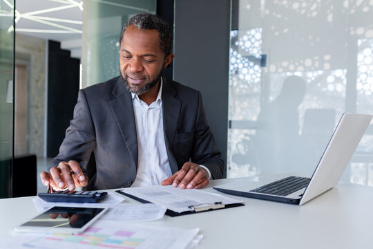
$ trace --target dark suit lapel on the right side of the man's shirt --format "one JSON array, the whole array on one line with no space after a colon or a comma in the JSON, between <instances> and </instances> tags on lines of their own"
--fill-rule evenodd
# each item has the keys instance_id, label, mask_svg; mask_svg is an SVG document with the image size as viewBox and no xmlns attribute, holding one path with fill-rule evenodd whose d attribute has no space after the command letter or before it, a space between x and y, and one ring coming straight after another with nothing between
<instances>
[{"instance_id":1,"label":"dark suit lapel on the right side of the man's shirt","mask_svg":"<svg viewBox=\"0 0 373 249\"><path fill-rule=\"evenodd\" d=\"M164 129L164 140L166 142L167 156L169 157L169 163L171 172L174 174L178 171L178 163L176 163L175 157L172 153L173 137L178 127L178 120L181 109L181 101L175 98L176 91L171 85L171 82L166 78L163 78L163 89L162 89L162 106L163 106L163 129Z\"/></svg>"}]
</instances>

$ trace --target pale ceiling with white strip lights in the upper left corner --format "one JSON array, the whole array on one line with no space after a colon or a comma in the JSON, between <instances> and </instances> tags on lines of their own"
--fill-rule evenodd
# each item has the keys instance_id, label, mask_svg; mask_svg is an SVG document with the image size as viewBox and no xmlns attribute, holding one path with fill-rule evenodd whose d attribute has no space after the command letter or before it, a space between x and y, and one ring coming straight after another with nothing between
<instances>
[{"instance_id":1,"label":"pale ceiling with white strip lights in the upper left corner","mask_svg":"<svg viewBox=\"0 0 373 249\"><path fill-rule=\"evenodd\" d=\"M12 10L12 0L0 0L0 14ZM61 48L81 57L82 0L17 0L16 33L61 42ZM12 30L12 26L8 28Z\"/></svg>"}]
</instances>

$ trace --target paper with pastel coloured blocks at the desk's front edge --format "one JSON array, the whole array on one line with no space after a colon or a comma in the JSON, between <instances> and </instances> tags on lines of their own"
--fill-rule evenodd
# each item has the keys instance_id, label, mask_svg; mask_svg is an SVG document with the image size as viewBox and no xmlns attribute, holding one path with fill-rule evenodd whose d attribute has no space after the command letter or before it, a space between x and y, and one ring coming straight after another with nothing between
<instances>
[{"instance_id":1,"label":"paper with pastel coloured blocks at the desk's front edge","mask_svg":"<svg viewBox=\"0 0 373 249\"><path fill-rule=\"evenodd\" d=\"M191 248L199 242L199 229L182 229L137 225L117 221L96 221L82 234L22 234L0 243L1 249L21 248Z\"/></svg>"}]
</instances>

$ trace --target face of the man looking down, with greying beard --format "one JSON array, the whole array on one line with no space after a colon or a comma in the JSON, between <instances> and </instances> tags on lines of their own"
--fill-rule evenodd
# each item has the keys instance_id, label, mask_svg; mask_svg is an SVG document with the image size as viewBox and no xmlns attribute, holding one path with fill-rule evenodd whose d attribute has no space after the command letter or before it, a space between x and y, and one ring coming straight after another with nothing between
<instances>
[{"instance_id":1,"label":"face of the man looking down, with greying beard","mask_svg":"<svg viewBox=\"0 0 373 249\"><path fill-rule=\"evenodd\" d=\"M172 54L164 57L157 30L133 25L126 28L120 43L119 68L129 91L137 95L146 93L159 82L162 69L172 59Z\"/></svg>"}]
</instances>

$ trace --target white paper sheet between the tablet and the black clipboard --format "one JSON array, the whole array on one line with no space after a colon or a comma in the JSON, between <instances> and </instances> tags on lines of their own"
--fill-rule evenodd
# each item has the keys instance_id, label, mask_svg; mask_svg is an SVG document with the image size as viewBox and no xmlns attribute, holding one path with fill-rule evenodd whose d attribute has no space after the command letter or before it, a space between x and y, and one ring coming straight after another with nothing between
<instances>
[{"instance_id":1,"label":"white paper sheet between the tablet and the black clipboard","mask_svg":"<svg viewBox=\"0 0 373 249\"><path fill-rule=\"evenodd\" d=\"M155 221L161 219L166 208L153 203L140 205L115 205L100 219L111 221Z\"/></svg>"}]
</instances>

